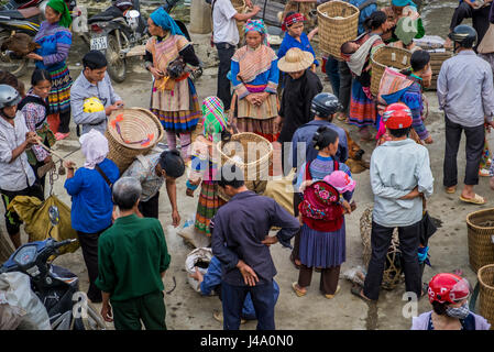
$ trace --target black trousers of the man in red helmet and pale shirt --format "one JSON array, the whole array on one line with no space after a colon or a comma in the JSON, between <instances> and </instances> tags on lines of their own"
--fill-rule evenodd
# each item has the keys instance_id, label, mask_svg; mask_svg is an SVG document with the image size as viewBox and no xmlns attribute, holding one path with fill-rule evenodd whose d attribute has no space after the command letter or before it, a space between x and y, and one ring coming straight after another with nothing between
<instances>
[{"instance_id":1,"label":"black trousers of the man in red helmet and pale shirt","mask_svg":"<svg viewBox=\"0 0 494 352\"><path fill-rule=\"evenodd\" d=\"M372 256L365 276L364 295L376 300L380 297L387 250L393 238L394 228L382 227L372 221L371 248ZM405 272L406 292L421 295L421 271L418 264L417 249L419 245L420 221L398 228L399 250L402 251Z\"/></svg>"}]
</instances>

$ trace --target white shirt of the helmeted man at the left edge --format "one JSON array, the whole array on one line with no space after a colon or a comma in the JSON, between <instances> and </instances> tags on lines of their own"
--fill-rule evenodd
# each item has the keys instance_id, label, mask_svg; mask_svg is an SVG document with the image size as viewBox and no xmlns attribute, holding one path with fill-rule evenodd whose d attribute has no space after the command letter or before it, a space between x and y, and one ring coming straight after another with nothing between
<instances>
[{"instance_id":1,"label":"white shirt of the helmeted man at the left edge","mask_svg":"<svg viewBox=\"0 0 494 352\"><path fill-rule=\"evenodd\" d=\"M21 111L15 114L14 125L0 117L0 188L3 190L23 190L36 179L25 152L11 162L12 151L24 143L28 132Z\"/></svg>"}]
</instances>

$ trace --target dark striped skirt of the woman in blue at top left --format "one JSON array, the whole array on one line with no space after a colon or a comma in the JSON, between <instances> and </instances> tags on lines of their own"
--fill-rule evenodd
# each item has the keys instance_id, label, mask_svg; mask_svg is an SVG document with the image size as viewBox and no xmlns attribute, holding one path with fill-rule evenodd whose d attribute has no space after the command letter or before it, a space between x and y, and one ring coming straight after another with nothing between
<instances>
[{"instance_id":1,"label":"dark striped skirt of the woman in blue at top left","mask_svg":"<svg viewBox=\"0 0 494 352\"><path fill-rule=\"evenodd\" d=\"M48 95L50 109L47 114L64 113L70 111L70 87L73 80L67 65L50 70L52 77L52 90Z\"/></svg>"}]
</instances>

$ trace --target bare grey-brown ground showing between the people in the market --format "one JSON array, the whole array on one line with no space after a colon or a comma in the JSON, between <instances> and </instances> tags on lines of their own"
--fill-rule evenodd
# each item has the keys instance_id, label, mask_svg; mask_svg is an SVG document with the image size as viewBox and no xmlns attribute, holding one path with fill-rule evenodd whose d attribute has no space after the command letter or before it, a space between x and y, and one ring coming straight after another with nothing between
<instances>
[{"instance_id":1,"label":"bare grey-brown ground showing between the people in the market","mask_svg":"<svg viewBox=\"0 0 494 352\"><path fill-rule=\"evenodd\" d=\"M428 34L446 36L453 11L452 6L457 1L430 1L429 4L425 6L422 18ZM209 55L209 63L213 65L216 54L209 48L209 35L194 35L193 40L197 44L196 47L201 59L206 61L206 56ZM80 72L78 62L86 51L87 47L84 43L76 38L69 57L69 68L74 78ZM322 76L320 77L323 79ZM28 78L24 77L23 80L28 85ZM146 107L150 98L150 74L143 69L142 63L134 61L132 73L128 79L123 84L116 84L114 88L128 107ZM216 68L206 69L205 75L197 81L196 86L200 99L215 95ZM330 90L329 84L325 81L325 91ZM463 204L459 200L459 191L455 195L447 195L442 190L443 118L438 110L436 94L430 91L426 96L430 105L430 113L426 124L435 140L435 143L428 146L435 176L435 195L428 202L428 207L430 215L442 221L442 227L439 228L438 232L430 240L432 267L426 267L424 282L428 282L437 273L452 272L460 268L463 271L464 276L472 284L475 284L475 273L469 266L465 217L470 212L494 207L494 197L488 188L487 178L481 178L480 185L476 187L476 191L488 199L485 206L477 207ZM356 139L354 128L341 122L337 122L337 124L350 130L352 136ZM487 139L491 145L494 145L493 136L488 135ZM56 150L68 153L77 146L75 125L72 125L70 138L57 143ZM362 144L362 147L366 151L364 156L369 158L373 151L373 144ZM462 144L458 158L460 180L463 179L464 175L463 151L464 145ZM80 152L75 153L73 160L78 166L84 163ZM358 183L354 194L358 209L347 217L347 262L342 265L342 273L362 264L360 218L362 212L373 204L369 172L354 175L354 178ZM64 202L70 205L70 199L63 188L64 180L65 176L59 176L54 182L53 193ZM177 186L182 223L194 217L198 200L197 193L194 199L185 197L185 177L183 177ZM171 227L171 207L167 197L164 193L162 194L160 219L166 231L166 241L172 254L172 264L164 279L167 326L169 329L221 329L222 324L212 319L212 310L221 309L218 297L200 297L187 283L185 258L190 249L176 234L176 230ZM1 223L1 228L2 232L6 233L3 223ZM281 295L276 305L276 327L278 329L409 329L411 320L403 315L405 306L405 300L402 299L405 292L404 285L399 285L393 292L382 290L377 304L367 305L351 295L351 284L341 279L340 285L342 289L340 294L334 299L328 300L318 292L320 275L316 273L307 296L298 298L290 288L292 283L298 277L298 272L288 260L289 251L277 244L272 246L272 256L278 271L275 279L281 287ZM61 256L56 260L56 264L65 266L77 274L80 277L81 289L87 289L87 273L80 250L76 253ZM418 312L427 310L430 310L428 300L420 300L418 302ZM255 329L255 321L249 321L242 326L242 329Z\"/></svg>"}]
</instances>

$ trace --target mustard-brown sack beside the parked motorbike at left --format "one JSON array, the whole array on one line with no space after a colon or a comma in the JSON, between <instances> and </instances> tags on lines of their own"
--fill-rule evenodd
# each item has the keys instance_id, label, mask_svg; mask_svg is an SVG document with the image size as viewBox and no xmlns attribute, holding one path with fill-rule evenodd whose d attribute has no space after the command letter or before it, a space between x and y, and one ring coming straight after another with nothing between
<instances>
[{"instance_id":1,"label":"mustard-brown sack beside the parked motorbike at left","mask_svg":"<svg viewBox=\"0 0 494 352\"><path fill-rule=\"evenodd\" d=\"M24 230L29 234L29 242L44 241L48 238L52 223L50 222L48 209L51 206L58 208L61 222L53 228L52 238L56 241L77 239L77 232L72 228L70 208L56 196L50 196L45 201L36 197L17 196L7 208L18 213L24 221ZM64 245L58 250L59 254L74 253L79 248L79 242Z\"/></svg>"}]
</instances>

